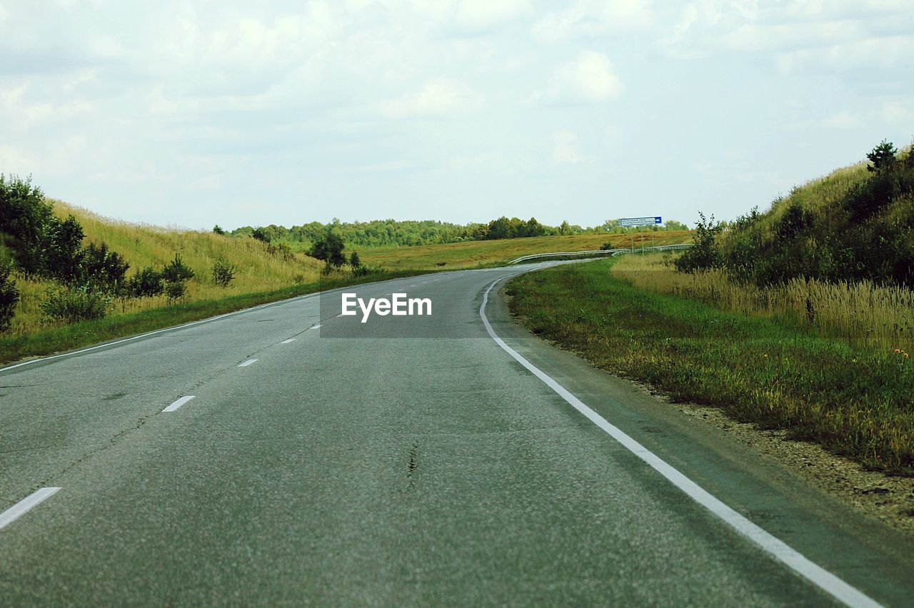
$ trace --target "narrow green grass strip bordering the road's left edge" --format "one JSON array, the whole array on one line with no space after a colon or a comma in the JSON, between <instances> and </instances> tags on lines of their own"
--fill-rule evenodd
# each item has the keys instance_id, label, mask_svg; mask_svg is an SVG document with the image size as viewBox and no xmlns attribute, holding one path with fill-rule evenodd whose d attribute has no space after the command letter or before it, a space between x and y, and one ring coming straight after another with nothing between
<instances>
[{"instance_id":1,"label":"narrow green grass strip bordering the road's left edge","mask_svg":"<svg viewBox=\"0 0 914 608\"><path fill-rule=\"evenodd\" d=\"M234 310L249 309L268 302L303 296L322 289L333 289L347 285L387 280L389 278L409 277L424 272L427 271L384 272L362 278L324 280L220 299L176 303L160 308L144 309L140 312L112 315L99 320L61 325L15 337L0 337L0 364L16 362L28 357L79 349L91 344L133 336L147 331L161 330Z\"/></svg>"}]
</instances>

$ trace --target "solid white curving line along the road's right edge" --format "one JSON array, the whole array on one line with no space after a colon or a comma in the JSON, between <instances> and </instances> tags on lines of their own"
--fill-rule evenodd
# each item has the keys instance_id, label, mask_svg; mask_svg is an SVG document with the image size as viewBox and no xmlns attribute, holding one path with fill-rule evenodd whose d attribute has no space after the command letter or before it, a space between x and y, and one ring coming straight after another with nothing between
<instances>
[{"instance_id":1,"label":"solid white curving line along the road's right edge","mask_svg":"<svg viewBox=\"0 0 914 608\"><path fill-rule=\"evenodd\" d=\"M771 554L776 560L781 561L781 563L792 571L800 574L807 581L812 582L815 586L834 597L834 599L845 603L848 606L881 606L880 603L877 603L864 592L861 592L842 581L831 572L813 563L813 561L809 561L803 557L801 553L793 550L782 540L772 536L758 525L749 521L749 519L740 515L737 511L729 508L717 498L714 498L704 488L698 486L688 477L685 477L685 475L680 473L674 466L667 464L663 458L656 456L654 452L651 452L649 449L639 444L630 435L625 434L622 429L611 425L600 414L591 410L590 407L580 401L578 397L569 393L565 387L549 377L546 372L542 372L537 366L528 362L521 354L505 344L505 341L498 337L492 329L489 320L486 318L485 305L489 301L489 292L492 291L492 288L494 288L496 283L507 278L515 277L518 274L523 273L516 273L509 277L496 278L492 284L489 285L489 288L485 290L483 304L479 307L479 316L483 319L485 330L502 350L514 357L516 362L526 367L529 372L537 376L543 383L546 383L549 388L558 393L562 399L567 401L581 414L587 416L590 422L599 426L607 435L610 435L613 439L622 444L622 446L625 446L631 451L632 454L641 458L645 463L654 468L655 471L666 477L675 487L678 487L685 492L689 498L692 498L699 505L707 508L718 518L723 519L731 528L736 529L740 534L754 542L762 550Z\"/></svg>"}]
</instances>

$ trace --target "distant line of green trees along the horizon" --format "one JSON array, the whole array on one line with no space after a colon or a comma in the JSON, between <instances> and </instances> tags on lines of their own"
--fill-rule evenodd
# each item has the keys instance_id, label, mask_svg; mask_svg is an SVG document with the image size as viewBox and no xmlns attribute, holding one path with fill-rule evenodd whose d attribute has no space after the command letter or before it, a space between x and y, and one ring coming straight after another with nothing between
<instances>
[{"instance_id":1,"label":"distant line of green trees along the horizon","mask_svg":"<svg viewBox=\"0 0 914 608\"><path fill-rule=\"evenodd\" d=\"M213 228L220 234L254 236L268 243L284 243L296 250L307 250L332 231L349 247L415 246L482 241L495 238L521 238L525 236L612 234L626 231L643 231L646 228L622 228L619 220L607 220L599 226L583 227L562 222L558 226L540 224L537 218L522 220L516 217L499 217L488 224L451 224L433 220L372 220L370 222L341 222L334 219L329 224L311 222L286 228L282 225L241 226L229 233L218 225ZM687 230L688 226L671 220L656 230Z\"/></svg>"}]
</instances>

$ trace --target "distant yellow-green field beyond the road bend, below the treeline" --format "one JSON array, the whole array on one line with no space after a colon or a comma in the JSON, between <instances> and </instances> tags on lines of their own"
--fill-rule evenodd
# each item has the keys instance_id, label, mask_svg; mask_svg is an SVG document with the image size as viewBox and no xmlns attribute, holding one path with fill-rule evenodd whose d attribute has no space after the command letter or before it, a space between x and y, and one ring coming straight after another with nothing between
<instances>
[{"instance_id":1,"label":"distant yellow-green field beyond the road bend, below the treeline","mask_svg":"<svg viewBox=\"0 0 914 608\"><path fill-rule=\"evenodd\" d=\"M692 240L688 231L643 232L634 236L618 234L532 236L492 241L466 241L448 245L384 247L359 250L358 255L370 264L386 268L459 269L503 264L515 257L554 251L589 251L604 243L614 247L675 245Z\"/></svg>"}]
</instances>

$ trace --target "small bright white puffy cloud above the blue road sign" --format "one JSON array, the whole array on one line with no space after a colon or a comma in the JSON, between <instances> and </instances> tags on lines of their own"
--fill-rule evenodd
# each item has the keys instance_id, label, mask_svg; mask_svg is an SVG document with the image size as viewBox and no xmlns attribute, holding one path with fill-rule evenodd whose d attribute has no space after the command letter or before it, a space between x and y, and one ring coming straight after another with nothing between
<instances>
[{"instance_id":1,"label":"small bright white puffy cloud above the blue road sign","mask_svg":"<svg viewBox=\"0 0 914 608\"><path fill-rule=\"evenodd\" d=\"M622 80L613 71L610 58L594 51L581 51L556 70L545 92L537 91L530 100L600 103L618 97L622 90Z\"/></svg>"}]
</instances>

